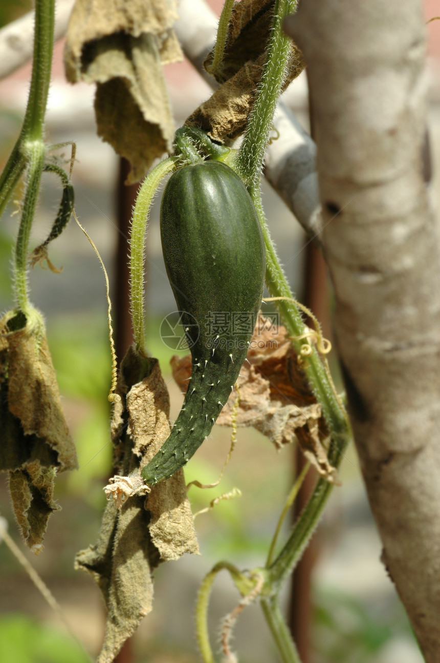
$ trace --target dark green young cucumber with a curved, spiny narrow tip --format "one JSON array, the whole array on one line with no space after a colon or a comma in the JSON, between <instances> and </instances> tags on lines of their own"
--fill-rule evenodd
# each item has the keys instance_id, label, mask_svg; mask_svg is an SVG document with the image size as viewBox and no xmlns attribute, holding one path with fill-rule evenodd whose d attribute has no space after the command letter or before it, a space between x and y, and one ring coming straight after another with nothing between
<instances>
[{"instance_id":1,"label":"dark green young cucumber with a curved, spiny narrow tip","mask_svg":"<svg viewBox=\"0 0 440 663\"><path fill-rule=\"evenodd\" d=\"M149 485L171 477L209 435L245 360L265 276L257 212L240 177L222 162L173 173L160 227L192 373L169 438L142 469Z\"/></svg>"}]
</instances>

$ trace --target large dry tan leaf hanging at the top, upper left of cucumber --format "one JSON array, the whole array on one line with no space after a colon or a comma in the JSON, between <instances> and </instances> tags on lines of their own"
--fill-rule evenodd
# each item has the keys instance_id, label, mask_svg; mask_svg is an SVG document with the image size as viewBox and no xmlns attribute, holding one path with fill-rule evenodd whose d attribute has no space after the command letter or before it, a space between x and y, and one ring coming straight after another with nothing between
<instances>
[{"instance_id":1,"label":"large dry tan leaf hanging at the top, upper left of cucumber","mask_svg":"<svg viewBox=\"0 0 440 663\"><path fill-rule=\"evenodd\" d=\"M182 60L175 0L77 0L64 61L71 83L97 83L98 134L128 158L127 183L171 150L174 123L162 64Z\"/></svg>"}]
</instances>

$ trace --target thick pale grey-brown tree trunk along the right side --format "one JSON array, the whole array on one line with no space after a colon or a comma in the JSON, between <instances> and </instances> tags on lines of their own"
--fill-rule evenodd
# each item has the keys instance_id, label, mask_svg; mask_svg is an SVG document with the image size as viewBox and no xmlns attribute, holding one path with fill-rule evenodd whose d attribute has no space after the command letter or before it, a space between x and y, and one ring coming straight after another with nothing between
<instances>
[{"instance_id":1,"label":"thick pale grey-brown tree trunk along the right side","mask_svg":"<svg viewBox=\"0 0 440 663\"><path fill-rule=\"evenodd\" d=\"M440 256L422 7L307 0L286 24L308 66L335 341L382 560L437 663Z\"/></svg>"}]
</instances>

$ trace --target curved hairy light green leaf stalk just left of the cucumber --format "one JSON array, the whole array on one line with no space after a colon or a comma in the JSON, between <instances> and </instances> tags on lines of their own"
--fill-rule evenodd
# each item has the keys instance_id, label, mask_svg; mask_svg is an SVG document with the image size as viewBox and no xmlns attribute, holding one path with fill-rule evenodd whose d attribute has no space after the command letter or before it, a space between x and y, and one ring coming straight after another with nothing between
<instances>
[{"instance_id":1,"label":"curved hairy light green leaf stalk just left of the cucumber","mask_svg":"<svg viewBox=\"0 0 440 663\"><path fill-rule=\"evenodd\" d=\"M144 259L148 214L157 188L165 175L175 170L177 157L169 156L159 162L146 176L133 210L130 233L130 306L136 349L144 350Z\"/></svg>"}]
</instances>

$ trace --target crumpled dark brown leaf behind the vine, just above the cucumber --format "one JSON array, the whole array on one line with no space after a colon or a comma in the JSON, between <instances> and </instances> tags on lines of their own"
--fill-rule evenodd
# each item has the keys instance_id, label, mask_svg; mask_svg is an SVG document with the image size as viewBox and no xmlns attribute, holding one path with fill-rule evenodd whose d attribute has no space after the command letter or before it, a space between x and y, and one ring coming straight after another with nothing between
<instances>
[{"instance_id":1,"label":"crumpled dark brown leaf behind the vine, just above the cucumber","mask_svg":"<svg viewBox=\"0 0 440 663\"><path fill-rule=\"evenodd\" d=\"M222 83L185 122L200 127L216 141L230 141L244 133L266 60L273 0L242 0L234 5L228 26L224 59L217 72ZM209 70L213 52L205 60ZM283 91L304 69L299 48L290 44Z\"/></svg>"}]
</instances>

